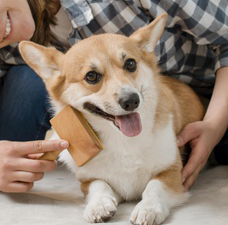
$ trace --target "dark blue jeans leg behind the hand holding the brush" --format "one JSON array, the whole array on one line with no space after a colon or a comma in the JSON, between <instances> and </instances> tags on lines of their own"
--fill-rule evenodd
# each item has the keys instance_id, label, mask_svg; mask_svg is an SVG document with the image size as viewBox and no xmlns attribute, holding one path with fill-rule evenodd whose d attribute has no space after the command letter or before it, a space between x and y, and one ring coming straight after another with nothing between
<instances>
[{"instance_id":1,"label":"dark blue jeans leg behind the hand holding the brush","mask_svg":"<svg viewBox=\"0 0 228 225\"><path fill-rule=\"evenodd\" d=\"M0 140L42 140L51 125L47 91L27 65L0 78Z\"/></svg>"}]
</instances>

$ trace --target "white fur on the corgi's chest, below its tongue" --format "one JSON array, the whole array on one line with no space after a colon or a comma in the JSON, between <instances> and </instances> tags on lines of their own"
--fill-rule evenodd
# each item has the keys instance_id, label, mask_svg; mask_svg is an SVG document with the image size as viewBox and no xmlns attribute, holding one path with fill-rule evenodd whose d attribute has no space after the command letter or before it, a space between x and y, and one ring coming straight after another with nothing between
<instances>
[{"instance_id":1,"label":"white fur on the corgi's chest, below its tongue","mask_svg":"<svg viewBox=\"0 0 228 225\"><path fill-rule=\"evenodd\" d=\"M152 176L175 162L172 119L156 133L145 124L142 133L131 138L109 124L100 136L105 149L85 166L77 168L67 152L61 154L60 160L76 172L78 179L101 179L124 199L138 199Z\"/></svg>"}]
</instances>

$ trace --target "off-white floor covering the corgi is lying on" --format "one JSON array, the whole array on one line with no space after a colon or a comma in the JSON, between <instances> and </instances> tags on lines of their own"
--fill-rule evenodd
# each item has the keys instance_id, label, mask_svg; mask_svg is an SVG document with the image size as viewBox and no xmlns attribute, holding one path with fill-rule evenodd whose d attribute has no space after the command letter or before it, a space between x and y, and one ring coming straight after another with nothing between
<instances>
[{"instance_id":1,"label":"off-white floor covering the corgi is lying on","mask_svg":"<svg viewBox=\"0 0 228 225\"><path fill-rule=\"evenodd\" d=\"M201 173L188 204L172 211L166 225L227 225L228 166ZM108 224L129 225L136 203L122 203ZM64 167L47 173L26 194L0 193L1 225L84 225L79 183Z\"/></svg>"}]
</instances>

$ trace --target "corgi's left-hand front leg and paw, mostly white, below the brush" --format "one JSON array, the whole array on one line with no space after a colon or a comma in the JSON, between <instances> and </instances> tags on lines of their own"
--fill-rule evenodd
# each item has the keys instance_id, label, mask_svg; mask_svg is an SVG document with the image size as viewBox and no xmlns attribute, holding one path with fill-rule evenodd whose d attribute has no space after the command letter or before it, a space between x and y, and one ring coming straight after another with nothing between
<instances>
[{"instance_id":1,"label":"corgi's left-hand front leg and paw, mostly white, below the brush","mask_svg":"<svg viewBox=\"0 0 228 225\"><path fill-rule=\"evenodd\" d=\"M101 223L114 216L118 203L122 200L112 188L102 180L82 183L81 189L87 197L84 218L90 223Z\"/></svg>"}]
</instances>

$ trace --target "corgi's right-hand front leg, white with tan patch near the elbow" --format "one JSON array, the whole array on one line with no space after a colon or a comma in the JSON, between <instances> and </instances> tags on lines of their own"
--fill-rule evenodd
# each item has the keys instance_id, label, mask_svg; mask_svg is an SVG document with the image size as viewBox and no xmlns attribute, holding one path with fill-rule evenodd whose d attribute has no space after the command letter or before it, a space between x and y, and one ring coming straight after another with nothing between
<instances>
[{"instance_id":1,"label":"corgi's right-hand front leg, white with tan patch near the elbow","mask_svg":"<svg viewBox=\"0 0 228 225\"><path fill-rule=\"evenodd\" d=\"M137 225L161 224L172 207L187 201L189 194L184 192L179 166L158 174L148 183L142 200L135 206L130 221Z\"/></svg>"}]
</instances>

